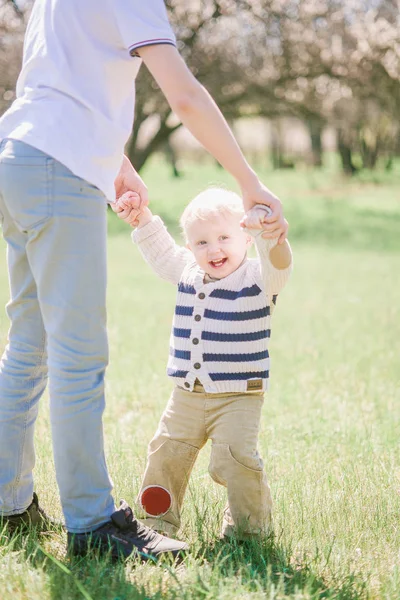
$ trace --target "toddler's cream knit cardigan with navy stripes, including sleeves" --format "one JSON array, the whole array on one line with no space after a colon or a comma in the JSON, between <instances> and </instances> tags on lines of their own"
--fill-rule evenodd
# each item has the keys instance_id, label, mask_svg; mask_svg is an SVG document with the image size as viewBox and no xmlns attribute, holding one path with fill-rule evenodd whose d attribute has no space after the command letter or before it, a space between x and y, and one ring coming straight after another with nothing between
<instances>
[{"instance_id":1,"label":"toddler's cream knit cardigan with navy stripes, including sleeves","mask_svg":"<svg viewBox=\"0 0 400 600\"><path fill-rule=\"evenodd\" d=\"M132 239L152 269L178 288L167 374L188 391L196 379L208 393L266 390L271 312L292 267L272 265L269 252L277 241L258 235L259 258L204 283L193 254L175 243L160 217Z\"/></svg>"}]
</instances>

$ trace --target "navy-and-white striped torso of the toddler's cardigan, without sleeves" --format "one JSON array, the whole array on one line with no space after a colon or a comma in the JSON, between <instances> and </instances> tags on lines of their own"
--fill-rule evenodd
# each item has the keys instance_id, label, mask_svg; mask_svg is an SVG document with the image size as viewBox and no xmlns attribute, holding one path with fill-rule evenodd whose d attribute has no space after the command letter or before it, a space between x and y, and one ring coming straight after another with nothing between
<instances>
[{"instance_id":1,"label":"navy-and-white striped torso of the toddler's cardigan, without sleeves","mask_svg":"<svg viewBox=\"0 0 400 600\"><path fill-rule=\"evenodd\" d=\"M218 391L251 379L266 388L270 305L259 284L247 285L247 263L218 282L201 277L197 286L185 280L192 269L178 284L168 374L187 389L193 377Z\"/></svg>"}]
</instances>

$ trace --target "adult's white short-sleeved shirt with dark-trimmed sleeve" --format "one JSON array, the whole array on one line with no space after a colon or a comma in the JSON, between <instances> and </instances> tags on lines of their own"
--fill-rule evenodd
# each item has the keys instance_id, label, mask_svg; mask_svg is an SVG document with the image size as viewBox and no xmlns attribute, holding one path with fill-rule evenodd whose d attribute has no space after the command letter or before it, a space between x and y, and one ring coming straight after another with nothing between
<instances>
[{"instance_id":1,"label":"adult's white short-sleeved shirt with dark-trimmed sleeve","mask_svg":"<svg viewBox=\"0 0 400 600\"><path fill-rule=\"evenodd\" d=\"M132 130L135 51L175 45L163 0L36 0L0 140L46 152L115 200Z\"/></svg>"}]
</instances>

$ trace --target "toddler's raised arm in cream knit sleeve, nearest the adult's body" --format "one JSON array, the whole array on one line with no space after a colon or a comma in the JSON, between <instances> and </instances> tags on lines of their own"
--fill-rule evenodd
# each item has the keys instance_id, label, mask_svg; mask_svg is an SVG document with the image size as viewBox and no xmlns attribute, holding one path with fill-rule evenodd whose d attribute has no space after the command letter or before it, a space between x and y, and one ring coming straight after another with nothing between
<instances>
[{"instance_id":1,"label":"toddler's raised arm in cream knit sleeve, nearest the adult's body","mask_svg":"<svg viewBox=\"0 0 400 600\"><path fill-rule=\"evenodd\" d=\"M127 192L119 198L118 204L127 210L127 218L124 220L132 227L137 226L132 232L132 240L146 262L157 275L178 284L185 266L193 262L193 254L175 243L160 217L153 215L149 208L134 212L140 210L140 198L137 194Z\"/></svg>"}]
</instances>

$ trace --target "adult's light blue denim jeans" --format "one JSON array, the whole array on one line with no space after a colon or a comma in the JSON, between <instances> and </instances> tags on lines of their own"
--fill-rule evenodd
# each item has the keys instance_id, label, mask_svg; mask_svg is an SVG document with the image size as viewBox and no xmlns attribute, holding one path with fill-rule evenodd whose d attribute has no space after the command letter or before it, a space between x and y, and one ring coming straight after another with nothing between
<instances>
[{"instance_id":1,"label":"adult's light blue denim jeans","mask_svg":"<svg viewBox=\"0 0 400 600\"><path fill-rule=\"evenodd\" d=\"M106 200L22 142L0 145L0 223L11 327L0 362L0 514L32 502L34 427L49 379L54 461L68 531L115 510L104 457Z\"/></svg>"}]
</instances>

